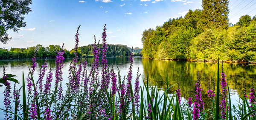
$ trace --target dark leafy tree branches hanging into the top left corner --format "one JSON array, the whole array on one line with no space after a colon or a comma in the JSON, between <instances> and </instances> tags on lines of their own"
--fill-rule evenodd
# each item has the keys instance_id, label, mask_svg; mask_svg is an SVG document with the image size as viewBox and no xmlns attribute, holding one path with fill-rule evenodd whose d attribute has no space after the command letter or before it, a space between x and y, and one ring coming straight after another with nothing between
<instances>
[{"instance_id":1,"label":"dark leafy tree branches hanging into the top left corner","mask_svg":"<svg viewBox=\"0 0 256 120\"><path fill-rule=\"evenodd\" d=\"M8 30L17 32L20 28L26 27L22 15L32 11L29 5L32 0L0 0L0 42L6 44L9 36Z\"/></svg>"}]
</instances>

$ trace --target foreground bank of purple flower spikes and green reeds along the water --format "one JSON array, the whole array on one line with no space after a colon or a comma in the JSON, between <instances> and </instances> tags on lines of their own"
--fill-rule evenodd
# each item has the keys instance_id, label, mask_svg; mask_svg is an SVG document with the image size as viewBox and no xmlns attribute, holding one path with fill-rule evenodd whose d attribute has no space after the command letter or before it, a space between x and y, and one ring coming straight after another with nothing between
<instances>
[{"instance_id":1,"label":"foreground bank of purple flower spikes and green reeds along the water","mask_svg":"<svg viewBox=\"0 0 256 120\"><path fill-rule=\"evenodd\" d=\"M64 79L62 73L67 72L62 71L63 49L59 50L55 57L55 73L52 71L52 67L47 70L46 59L44 64L40 65L38 81L35 81L33 77L35 68L38 66L34 56L26 78L23 73L22 87L20 88L17 88L18 81L13 78L15 75L6 74L3 67L3 78L0 78L0 82L5 85L4 108L0 109L5 112L5 119L255 120L256 94L254 86L252 85L250 89L249 97L246 94L247 91L244 91L239 104L232 105L226 75L223 67L220 71L219 62L217 64L217 81L214 81L217 87L215 84L209 84L207 93L212 102L209 102L210 108L205 108L200 74L197 75L195 89L191 89L188 98L181 100L183 97L179 82L170 85L168 77L163 91L160 91L157 86L149 84L148 80L143 80L143 85L140 85L139 68L137 75L133 75L132 71L133 53L130 54L128 74L121 76L118 68L116 73L113 66L108 65L106 59L108 49L105 27L102 33L102 47L99 47L95 39L94 61L91 70L87 71L86 59L79 59L77 54L79 28L76 33L76 46L73 53L75 57L70 62L68 70L67 89L63 89L64 83L62 83ZM100 63L101 49L102 61ZM99 71L100 69L101 71ZM133 76L136 77L133 78ZM135 79L134 85L131 84L132 79ZM13 82L15 84L12 89L11 83ZM177 86L177 90L170 93L169 89L174 86ZM246 84L244 84L244 88L246 88Z\"/></svg>"}]
</instances>

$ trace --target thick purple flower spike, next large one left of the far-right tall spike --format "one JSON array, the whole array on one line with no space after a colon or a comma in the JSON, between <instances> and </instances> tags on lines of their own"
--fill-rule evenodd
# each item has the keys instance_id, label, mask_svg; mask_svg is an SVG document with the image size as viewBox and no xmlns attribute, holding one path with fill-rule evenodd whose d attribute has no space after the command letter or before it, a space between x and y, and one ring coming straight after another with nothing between
<instances>
[{"instance_id":1,"label":"thick purple flower spike, next large one left of the far-right tall spike","mask_svg":"<svg viewBox=\"0 0 256 120\"><path fill-rule=\"evenodd\" d=\"M195 103L194 103L194 108L193 108L193 119L198 120L200 117L200 113L204 113L204 102L202 99L202 94L201 94L201 84L200 84L200 76L198 74L198 81L195 83Z\"/></svg>"}]
</instances>

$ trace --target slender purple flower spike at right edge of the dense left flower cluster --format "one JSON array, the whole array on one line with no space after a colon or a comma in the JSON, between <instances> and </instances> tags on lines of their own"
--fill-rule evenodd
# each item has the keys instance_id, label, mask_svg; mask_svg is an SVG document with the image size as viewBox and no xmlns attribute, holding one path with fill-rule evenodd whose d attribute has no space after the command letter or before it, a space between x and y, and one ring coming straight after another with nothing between
<instances>
[{"instance_id":1,"label":"slender purple flower spike at right edge of the dense left flower cluster","mask_svg":"<svg viewBox=\"0 0 256 120\"><path fill-rule=\"evenodd\" d=\"M135 78L135 87L134 87L134 106L136 106L137 114L140 113L140 75L139 68L137 71L137 77Z\"/></svg>"}]
</instances>

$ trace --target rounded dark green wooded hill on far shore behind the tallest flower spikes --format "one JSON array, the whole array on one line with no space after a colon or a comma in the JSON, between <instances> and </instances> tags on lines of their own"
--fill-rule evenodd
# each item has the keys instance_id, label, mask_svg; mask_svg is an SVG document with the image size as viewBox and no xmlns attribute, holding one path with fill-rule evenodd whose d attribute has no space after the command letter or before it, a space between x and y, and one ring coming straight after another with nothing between
<instances>
[{"instance_id":1,"label":"rounded dark green wooded hill on far shore behind the tallest flower spikes","mask_svg":"<svg viewBox=\"0 0 256 120\"><path fill-rule=\"evenodd\" d=\"M102 48L102 44L99 44L99 47ZM130 48L126 45L111 45L108 44L107 57L125 57L130 56ZM74 50L72 49L71 52ZM78 48L78 51L84 56L88 57L93 56L93 44L82 46ZM102 53L102 50L101 50ZM102 55L100 55L102 56Z\"/></svg>"}]
</instances>

